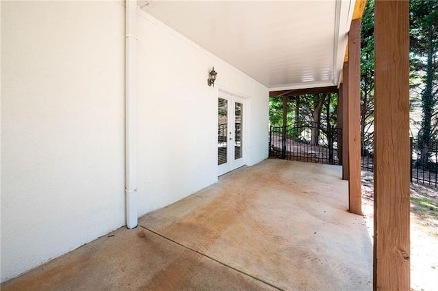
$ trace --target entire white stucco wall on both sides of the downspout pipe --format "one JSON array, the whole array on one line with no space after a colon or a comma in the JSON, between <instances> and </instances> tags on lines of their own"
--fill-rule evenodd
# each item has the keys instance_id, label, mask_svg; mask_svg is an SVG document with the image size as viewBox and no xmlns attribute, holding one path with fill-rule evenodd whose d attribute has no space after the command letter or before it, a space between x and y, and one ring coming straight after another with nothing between
<instances>
[{"instance_id":1,"label":"entire white stucco wall on both sides of the downspout pipe","mask_svg":"<svg viewBox=\"0 0 438 291\"><path fill-rule=\"evenodd\" d=\"M125 225L124 29L118 1L1 3L1 281ZM139 10L139 215L216 182L219 87L262 161L268 89Z\"/></svg>"}]
</instances>

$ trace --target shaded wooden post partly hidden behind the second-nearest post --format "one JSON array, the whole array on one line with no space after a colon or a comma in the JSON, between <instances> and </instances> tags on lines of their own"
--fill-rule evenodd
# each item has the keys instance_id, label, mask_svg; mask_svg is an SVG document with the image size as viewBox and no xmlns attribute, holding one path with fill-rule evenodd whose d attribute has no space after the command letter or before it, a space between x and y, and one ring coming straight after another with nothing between
<instances>
[{"instance_id":1,"label":"shaded wooden post partly hidden behind the second-nearest post","mask_svg":"<svg viewBox=\"0 0 438 291\"><path fill-rule=\"evenodd\" d=\"M348 61L342 68L342 179L348 180Z\"/></svg>"}]
</instances>

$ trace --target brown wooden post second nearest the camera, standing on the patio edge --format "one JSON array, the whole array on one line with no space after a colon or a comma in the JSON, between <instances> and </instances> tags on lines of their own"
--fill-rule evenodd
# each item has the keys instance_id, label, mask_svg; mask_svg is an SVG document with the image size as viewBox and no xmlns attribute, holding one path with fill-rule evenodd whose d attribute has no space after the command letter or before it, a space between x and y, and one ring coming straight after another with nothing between
<instances>
[{"instance_id":1,"label":"brown wooden post second nearest the camera, standing on the patio edge","mask_svg":"<svg viewBox=\"0 0 438 291\"><path fill-rule=\"evenodd\" d=\"M349 211L362 214L361 191L361 19L348 33L348 195Z\"/></svg>"}]
</instances>

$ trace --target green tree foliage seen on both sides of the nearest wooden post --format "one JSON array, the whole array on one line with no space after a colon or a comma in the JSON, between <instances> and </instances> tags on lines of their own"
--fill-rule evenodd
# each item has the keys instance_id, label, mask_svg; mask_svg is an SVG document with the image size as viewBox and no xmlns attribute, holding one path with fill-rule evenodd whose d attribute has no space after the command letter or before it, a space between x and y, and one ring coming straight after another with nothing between
<instances>
[{"instance_id":1,"label":"green tree foliage seen on both sides of the nearest wooden post","mask_svg":"<svg viewBox=\"0 0 438 291\"><path fill-rule=\"evenodd\" d=\"M437 49L438 0L411 1L411 105L415 92L423 111L420 144L427 148L438 135ZM361 142L363 154L372 150L374 124L374 1L365 5L361 23ZM426 158L426 156L424 158Z\"/></svg>"}]
</instances>

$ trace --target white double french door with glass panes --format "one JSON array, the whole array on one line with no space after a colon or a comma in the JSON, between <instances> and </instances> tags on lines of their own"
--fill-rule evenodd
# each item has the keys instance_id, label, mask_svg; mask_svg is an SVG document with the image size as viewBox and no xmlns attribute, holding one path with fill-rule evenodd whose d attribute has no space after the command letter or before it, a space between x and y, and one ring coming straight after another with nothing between
<instances>
[{"instance_id":1,"label":"white double french door with glass panes","mask_svg":"<svg viewBox=\"0 0 438 291\"><path fill-rule=\"evenodd\" d=\"M220 92L218 98L218 176L244 165L244 99Z\"/></svg>"}]
</instances>

